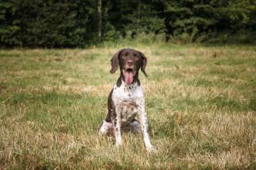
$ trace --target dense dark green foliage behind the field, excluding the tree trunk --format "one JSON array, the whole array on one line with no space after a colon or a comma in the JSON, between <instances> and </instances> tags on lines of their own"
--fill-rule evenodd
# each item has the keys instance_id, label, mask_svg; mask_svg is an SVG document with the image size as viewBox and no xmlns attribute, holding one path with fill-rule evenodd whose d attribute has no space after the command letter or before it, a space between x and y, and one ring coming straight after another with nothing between
<instances>
[{"instance_id":1,"label":"dense dark green foliage behind the field, excluding the tree trunk","mask_svg":"<svg viewBox=\"0 0 256 170\"><path fill-rule=\"evenodd\" d=\"M1 47L82 47L164 35L170 42L253 42L255 0L0 0ZM150 36L151 38L152 36Z\"/></svg>"}]
</instances>

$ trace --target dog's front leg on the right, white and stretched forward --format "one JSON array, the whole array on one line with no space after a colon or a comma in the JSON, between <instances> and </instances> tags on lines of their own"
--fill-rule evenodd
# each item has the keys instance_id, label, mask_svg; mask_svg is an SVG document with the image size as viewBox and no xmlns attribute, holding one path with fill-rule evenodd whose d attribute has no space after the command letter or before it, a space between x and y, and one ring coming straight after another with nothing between
<instances>
[{"instance_id":1,"label":"dog's front leg on the right, white and stretched forward","mask_svg":"<svg viewBox=\"0 0 256 170\"><path fill-rule=\"evenodd\" d=\"M143 140L144 140L147 151L148 152L155 151L154 147L150 142L150 135L148 134L147 114L143 106L141 106L141 110L139 110L138 118L139 118L139 124L141 126L141 132L143 134Z\"/></svg>"}]
</instances>

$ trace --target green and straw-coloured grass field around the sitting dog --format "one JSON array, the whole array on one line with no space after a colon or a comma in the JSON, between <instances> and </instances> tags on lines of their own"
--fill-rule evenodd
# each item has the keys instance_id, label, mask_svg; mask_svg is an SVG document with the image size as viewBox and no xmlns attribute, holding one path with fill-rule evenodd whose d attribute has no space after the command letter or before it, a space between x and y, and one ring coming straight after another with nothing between
<instances>
[{"instance_id":1,"label":"green and straw-coloured grass field around the sitting dog","mask_svg":"<svg viewBox=\"0 0 256 170\"><path fill-rule=\"evenodd\" d=\"M0 50L0 169L256 169L256 47L129 46L152 144L99 138L120 48Z\"/></svg>"}]
</instances>

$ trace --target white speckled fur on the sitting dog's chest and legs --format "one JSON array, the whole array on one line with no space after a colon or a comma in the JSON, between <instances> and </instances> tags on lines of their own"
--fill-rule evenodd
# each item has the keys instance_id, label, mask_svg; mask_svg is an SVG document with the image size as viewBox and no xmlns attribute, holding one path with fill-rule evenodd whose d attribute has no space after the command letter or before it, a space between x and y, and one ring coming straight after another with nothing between
<instances>
[{"instance_id":1,"label":"white speckled fur on the sitting dog's chest and legs","mask_svg":"<svg viewBox=\"0 0 256 170\"><path fill-rule=\"evenodd\" d=\"M115 105L115 111L117 113L117 124L115 127L113 127L114 122L111 125L110 123L104 121L99 133L106 134L112 126L115 134L116 146L120 146L122 144L121 129L133 127L132 131L142 132L143 141L147 151L153 151L154 148L150 142L150 137L148 134L145 97L142 87L138 85L137 82L127 85L127 83L122 80L120 87L115 85L112 99ZM132 107L133 109L131 109ZM134 118L136 114L138 116L139 123L137 121L131 122L131 119ZM124 116L127 116L127 118L124 118Z\"/></svg>"}]
</instances>

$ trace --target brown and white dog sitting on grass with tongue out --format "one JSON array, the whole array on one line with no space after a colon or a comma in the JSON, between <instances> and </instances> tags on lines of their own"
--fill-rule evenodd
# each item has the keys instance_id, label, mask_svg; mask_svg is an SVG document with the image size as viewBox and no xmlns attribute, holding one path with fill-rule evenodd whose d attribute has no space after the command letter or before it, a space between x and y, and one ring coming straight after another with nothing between
<instances>
[{"instance_id":1,"label":"brown and white dog sitting on grass with tongue out","mask_svg":"<svg viewBox=\"0 0 256 170\"><path fill-rule=\"evenodd\" d=\"M110 60L115 73L120 67L121 75L108 95L108 114L100 126L99 134L113 134L115 145L122 144L121 130L142 132L147 151L155 151L148 134L145 97L138 76L139 69L148 77L145 68L147 58L141 52L130 48L119 50ZM137 120L135 116L137 115Z\"/></svg>"}]
</instances>

